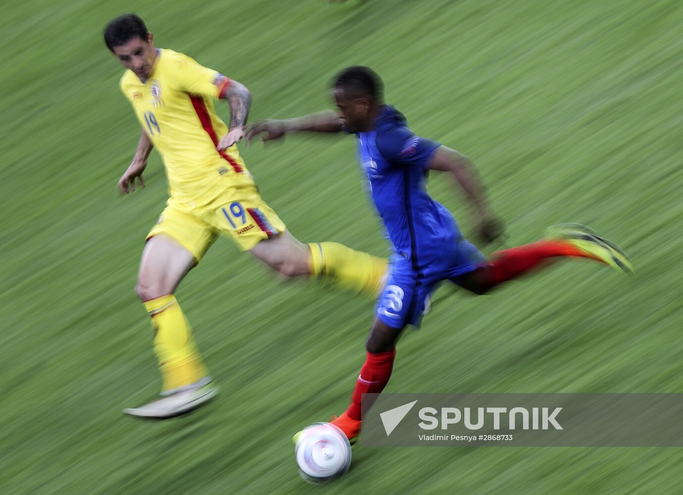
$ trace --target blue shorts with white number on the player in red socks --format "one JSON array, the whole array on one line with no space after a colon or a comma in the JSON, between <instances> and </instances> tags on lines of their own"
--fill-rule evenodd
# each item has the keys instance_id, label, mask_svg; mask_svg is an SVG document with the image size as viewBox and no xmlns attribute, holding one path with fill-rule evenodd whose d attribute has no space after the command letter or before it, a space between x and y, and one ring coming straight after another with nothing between
<instances>
[{"instance_id":1,"label":"blue shorts with white number on the player in red socks","mask_svg":"<svg viewBox=\"0 0 683 495\"><path fill-rule=\"evenodd\" d=\"M417 264L400 255L394 257L387 285L376 306L382 322L392 328L419 326L430 294L441 282L457 283L458 277L476 270L486 261L474 244L462 237L439 251L438 255L428 253Z\"/></svg>"}]
</instances>

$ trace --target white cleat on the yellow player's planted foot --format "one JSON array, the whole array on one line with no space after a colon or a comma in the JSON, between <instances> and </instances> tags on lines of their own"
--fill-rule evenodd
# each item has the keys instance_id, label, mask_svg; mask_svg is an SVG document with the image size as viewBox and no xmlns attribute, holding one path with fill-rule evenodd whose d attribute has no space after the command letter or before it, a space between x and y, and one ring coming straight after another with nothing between
<instances>
[{"instance_id":1,"label":"white cleat on the yellow player's planted foot","mask_svg":"<svg viewBox=\"0 0 683 495\"><path fill-rule=\"evenodd\" d=\"M197 409L217 393L218 387L212 384L211 378L202 378L195 384L164 393L161 398L139 408L126 408L124 412L142 418L172 418Z\"/></svg>"}]
</instances>

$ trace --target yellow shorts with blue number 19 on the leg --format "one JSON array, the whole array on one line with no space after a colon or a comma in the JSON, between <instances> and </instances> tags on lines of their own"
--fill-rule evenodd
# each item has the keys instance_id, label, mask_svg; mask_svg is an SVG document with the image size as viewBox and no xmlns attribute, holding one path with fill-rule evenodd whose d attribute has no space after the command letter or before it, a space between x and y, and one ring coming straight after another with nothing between
<instances>
[{"instance_id":1,"label":"yellow shorts with blue number 19 on the leg","mask_svg":"<svg viewBox=\"0 0 683 495\"><path fill-rule=\"evenodd\" d=\"M195 201L177 201L170 197L166 205L147 238L165 234L180 242L197 262L219 232L229 234L242 251L249 251L286 229L261 199L249 172L221 178L206 197Z\"/></svg>"}]
</instances>

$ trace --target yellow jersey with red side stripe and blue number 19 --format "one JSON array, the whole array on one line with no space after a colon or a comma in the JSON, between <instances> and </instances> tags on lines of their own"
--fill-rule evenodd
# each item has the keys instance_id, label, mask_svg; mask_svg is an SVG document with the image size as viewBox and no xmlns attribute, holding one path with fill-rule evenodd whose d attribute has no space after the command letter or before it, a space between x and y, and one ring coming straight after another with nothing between
<instances>
[{"instance_id":1,"label":"yellow jersey with red side stripe and blue number 19","mask_svg":"<svg viewBox=\"0 0 683 495\"><path fill-rule=\"evenodd\" d=\"M227 126L216 114L213 100L223 98L229 78L187 55L159 49L147 81L126 70L120 85L161 153L171 197L195 201L221 175L246 171L236 145L216 150Z\"/></svg>"}]
</instances>

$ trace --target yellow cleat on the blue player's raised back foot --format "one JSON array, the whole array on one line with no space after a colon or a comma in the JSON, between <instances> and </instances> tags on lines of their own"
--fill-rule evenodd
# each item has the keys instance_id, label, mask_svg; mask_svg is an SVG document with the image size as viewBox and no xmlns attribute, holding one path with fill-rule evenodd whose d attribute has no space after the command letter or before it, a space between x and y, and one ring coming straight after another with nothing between
<instances>
[{"instance_id":1,"label":"yellow cleat on the blue player's raised back foot","mask_svg":"<svg viewBox=\"0 0 683 495\"><path fill-rule=\"evenodd\" d=\"M598 236L593 229L580 223L559 223L548 227L546 238L569 242L589 257L626 274L633 273L630 258L617 244Z\"/></svg>"}]
</instances>

